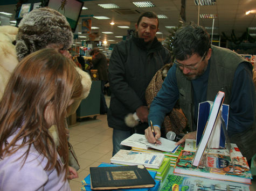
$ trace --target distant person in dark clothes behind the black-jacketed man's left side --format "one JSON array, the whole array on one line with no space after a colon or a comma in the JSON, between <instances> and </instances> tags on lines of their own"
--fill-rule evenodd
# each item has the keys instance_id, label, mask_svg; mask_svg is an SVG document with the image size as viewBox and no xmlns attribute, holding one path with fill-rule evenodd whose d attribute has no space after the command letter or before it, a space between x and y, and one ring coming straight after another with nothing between
<instances>
[{"instance_id":1,"label":"distant person in dark clothes behind the black-jacketed man's left side","mask_svg":"<svg viewBox=\"0 0 256 191\"><path fill-rule=\"evenodd\" d=\"M98 70L99 80L101 80L100 114L106 114L108 113L108 106L104 96L104 85L108 82L108 61L99 48L93 48L90 55L92 56L93 69Z\"/></svg>"}]
</instances>

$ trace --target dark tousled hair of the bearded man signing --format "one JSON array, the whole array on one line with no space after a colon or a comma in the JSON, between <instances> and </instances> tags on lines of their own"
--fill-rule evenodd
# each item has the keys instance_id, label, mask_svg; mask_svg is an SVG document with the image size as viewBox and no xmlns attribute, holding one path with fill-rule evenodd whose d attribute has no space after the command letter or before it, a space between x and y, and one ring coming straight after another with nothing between
<instances>
[{"instance_id":1,"label":"dark tousled hair of the bearded man signing","mask_svg":"<svg viewBox=\"0 0 256 191\"><path fill-rule=\"evenodd\" d=\"M202 26L190 23L175 33L174 48L172 50L175 58L183 61L194 53L202 57L210 47L209 33Z\"/></svg>"}]
</instances>

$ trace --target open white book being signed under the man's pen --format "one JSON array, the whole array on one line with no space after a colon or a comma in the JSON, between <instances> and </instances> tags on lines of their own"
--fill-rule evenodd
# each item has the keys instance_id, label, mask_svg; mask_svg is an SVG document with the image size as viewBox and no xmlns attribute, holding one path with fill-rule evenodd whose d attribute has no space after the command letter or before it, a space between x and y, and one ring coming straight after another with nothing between
<instances>
[{"instance_id":1,"label":"open white book being signed under the man's pen","mask_svg":"<svg viewBox=\"0 0 256 191\"><path fill-rule=\"evenodd\" d=\"M175 153L178 149L179 145L175 145L176 142L170 141L167 138L160 137L158 139L162 144L153 144L149 143L144 135L141 134L133 134L130 137L124 139L120 144L125 146L136 147L140 149L157 149L165 152Z\"/></svg>"}]
</instances>

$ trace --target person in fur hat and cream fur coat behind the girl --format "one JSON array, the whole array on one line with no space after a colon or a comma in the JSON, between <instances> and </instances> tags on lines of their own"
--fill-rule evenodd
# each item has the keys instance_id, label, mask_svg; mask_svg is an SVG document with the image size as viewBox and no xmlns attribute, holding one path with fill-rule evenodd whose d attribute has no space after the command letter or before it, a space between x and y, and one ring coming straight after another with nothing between
<instances>
[{"instance_id":1,"label":"person in fur hat and cream fur coat behind the girl","mask_svg":"<svg viewBox=\"0 0 256 191\"><path fill-rule=\"evenodd\" d=\"M50 8L34 9L25 14L18 28L0 26L0 99L12 71L26 55L49 47L71 59L67 49L72 43L73 33L67 19L63 14ZM91 77L86 72L78 67L75 69L81 76L82 94L79 99L74 100L67 116L73 114L81 100L88 96L92 84ZM54 127L49 131L58 142ZM77 177L78 174L75 173Z\"/></svg>"}]
</instances>

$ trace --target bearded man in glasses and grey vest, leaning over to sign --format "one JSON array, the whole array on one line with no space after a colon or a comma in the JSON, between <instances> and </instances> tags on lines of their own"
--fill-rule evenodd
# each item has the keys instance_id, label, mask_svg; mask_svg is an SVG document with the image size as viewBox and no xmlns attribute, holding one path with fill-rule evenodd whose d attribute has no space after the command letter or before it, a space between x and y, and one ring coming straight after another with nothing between
<instances>
[{"instance_id":1,"label":"bearded man in glasses and grey vest, leaning over to sign","mask_svg":"<svg viewBox=\"0 0 256 191\"><path fill-rule=\"evenodd\" d=\"M183 26L175 33L173 53L174 66L150 106L148 121L154 123L155 137L148 127L148 141L161 144L157 139L164 116L177 100L188 119L190 133L176 144L187 138L196 139L198 104L214 101L218 91L223 91L224 104L230 105L227 133L250 160L256 153L252 64L229 49L211 45L210 35L195 24Z\"/></svg>"}]
</instances>

